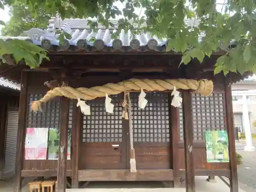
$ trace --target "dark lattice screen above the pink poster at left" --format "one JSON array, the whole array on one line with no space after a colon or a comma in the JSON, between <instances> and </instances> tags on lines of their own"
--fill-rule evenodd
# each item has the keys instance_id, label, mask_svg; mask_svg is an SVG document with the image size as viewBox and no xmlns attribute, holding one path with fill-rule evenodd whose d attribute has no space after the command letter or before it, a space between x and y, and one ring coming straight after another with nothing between
<instances>
[{"instance_id":1,"label":"dark lattice screen above the pink poster at left","mask_svg":"<svg viewBox=\"0 0 256 192\"><path fill-rule=\"evenodd\" d=\"M30 111L32 101L39 100L42 94L29 94L27 127L59 127L60 99L53 99L42 105L42 112Z\"/></svg>"}]
</instances>

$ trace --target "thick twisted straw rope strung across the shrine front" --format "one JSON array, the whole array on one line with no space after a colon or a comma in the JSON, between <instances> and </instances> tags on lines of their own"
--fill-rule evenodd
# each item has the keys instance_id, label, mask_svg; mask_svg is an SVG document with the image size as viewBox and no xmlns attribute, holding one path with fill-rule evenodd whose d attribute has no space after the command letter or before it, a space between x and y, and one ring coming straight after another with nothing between
<instances>
[{"instance_id":1,"label":"thick twisted straw rope strung across the shrine front","mask_svg":"<svg viewBox=\"0 0 256 192\"><path fill-rule=\"evenodd\" d=\"M34 112L41 111L41 104L45 103L54 97L65 96L70 99L84 99L92 100L97 97L105 97L105 94L116 95L126 91L165 91L173 90L174 87L183 90L195 90L204 96L209 96L213 90L213 83L210 80L194 80L194 79L129 79L119 83L108 83L103 86L92 88L71 88L71 87L57 87L46 93L40 100L34 101L31 104L31 110Z\"/></svg>"}]
</instances>

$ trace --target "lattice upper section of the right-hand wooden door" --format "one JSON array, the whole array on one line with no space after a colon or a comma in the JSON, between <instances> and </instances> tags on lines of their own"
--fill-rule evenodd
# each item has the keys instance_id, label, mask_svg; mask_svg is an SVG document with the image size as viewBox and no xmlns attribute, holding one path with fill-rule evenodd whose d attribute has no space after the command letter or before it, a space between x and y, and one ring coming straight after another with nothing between
<instances>
[{"instance_id":1,"label":"lattice upper section of the right-hand wooden door","mask_svg":"<svg viewBox=\"0 0 256 192\"><path fill-rule=\"evenodd\" d=\"M138 107L138 96L139 93L131 93L134 141L169 142L168 95L147 93L144 110Z\"/></svg>"}]
</instances>

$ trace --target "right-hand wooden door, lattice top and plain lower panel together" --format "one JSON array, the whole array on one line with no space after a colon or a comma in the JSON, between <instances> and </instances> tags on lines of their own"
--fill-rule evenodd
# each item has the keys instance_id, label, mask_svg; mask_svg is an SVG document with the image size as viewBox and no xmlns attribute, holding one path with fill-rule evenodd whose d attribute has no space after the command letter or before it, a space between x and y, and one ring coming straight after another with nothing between
<instances>
[{"instance_id":1,"label":"right-hand wooden door, lattice top and plain lower panel together","mask_svg":"<svg viewBox=\"0 0 256 192\"><path fill-rule=\"evenodd\" d=\"M171 168L168 95L147 93L144 110L138 107L138 96L131 93L137 168Z\"/></svg>"}]
</instances>

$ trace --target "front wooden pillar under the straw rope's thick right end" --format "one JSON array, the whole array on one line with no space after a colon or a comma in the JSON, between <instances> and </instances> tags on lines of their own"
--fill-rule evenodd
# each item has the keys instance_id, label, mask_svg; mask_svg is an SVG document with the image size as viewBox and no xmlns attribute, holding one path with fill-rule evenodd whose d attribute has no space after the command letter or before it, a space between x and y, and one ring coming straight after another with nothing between
<instances>
[{"instance_id":1,"label":"front wooden pillar under the straw rope's thick right end","mask_svg":"<svg viewBox=\"0 0 256 192\"><path fill-rule=\"evenodd\" d=\"M192 101L190 91L186 90L182 93L186 192L195 192L193 119L191 103Z\"/></svg>"}]
</instances>

